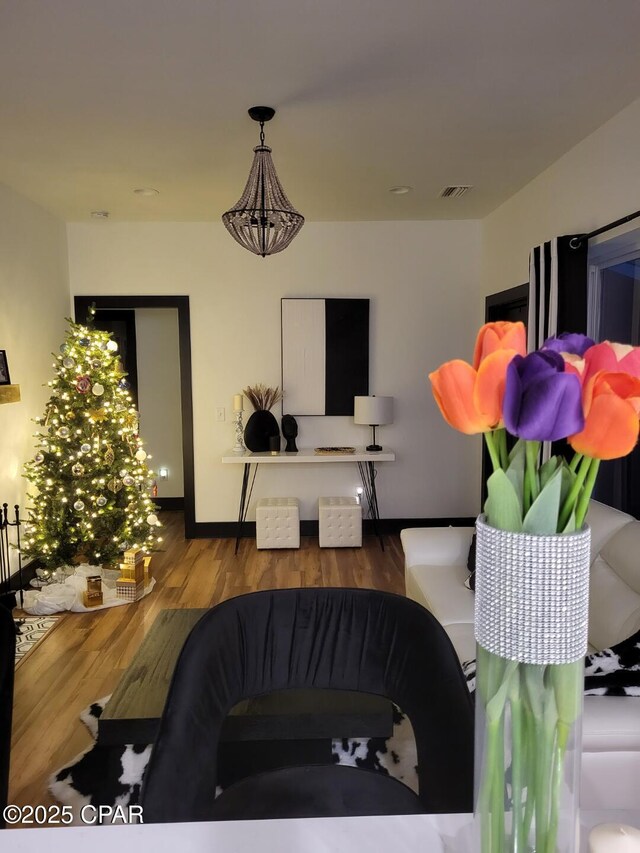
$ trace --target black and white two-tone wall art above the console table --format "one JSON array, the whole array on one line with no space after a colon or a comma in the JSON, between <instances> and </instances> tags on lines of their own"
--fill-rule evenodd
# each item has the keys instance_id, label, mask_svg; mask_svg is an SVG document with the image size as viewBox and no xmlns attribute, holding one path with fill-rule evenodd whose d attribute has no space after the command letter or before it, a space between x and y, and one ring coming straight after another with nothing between
<instances>
[{"instance_id":1,"label":"black and white two-tone wall art above the console table","mask_svg":"<svg viewBox=\"0 0 640 853\"><path fill-rule=\"evenodd\" d=\"M282 300L283 411L353 415L369 393L369 300Z\"/></svg>"}]
</instances>

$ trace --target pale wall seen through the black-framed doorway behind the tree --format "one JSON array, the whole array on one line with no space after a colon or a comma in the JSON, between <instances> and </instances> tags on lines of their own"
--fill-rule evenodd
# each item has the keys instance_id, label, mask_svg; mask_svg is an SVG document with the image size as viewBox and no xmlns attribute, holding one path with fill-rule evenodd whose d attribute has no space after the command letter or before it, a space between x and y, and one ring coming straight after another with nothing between
<instances>
[{"instance_id":1,"label":"pale wall seen through the black-framed doorway behind the tree","mask_svg":"<svg viewBox=\"0 0 640 853\"><path fill-rule=\"evenodd\" d=\"M158 497L183 497L178 309L136 308L135 314L140 435L153 457L149 466L169 470L166 480L156 474Z\"/></svg>"}]
</instances>

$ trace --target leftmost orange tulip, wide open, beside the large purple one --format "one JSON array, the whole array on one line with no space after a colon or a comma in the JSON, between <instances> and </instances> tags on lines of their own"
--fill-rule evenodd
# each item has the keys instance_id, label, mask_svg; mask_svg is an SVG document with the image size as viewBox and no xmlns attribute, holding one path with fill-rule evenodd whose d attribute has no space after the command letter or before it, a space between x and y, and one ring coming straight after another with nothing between
<instances>
[{"instance_id":1,"label":"leftmost orange tulip, wide open, beside the large purple one","mask_svg":"<svg viewBox=\"0 0 640 853\"><path fill-rule=\"evenodd\" d=\"M429 374L433 396L450 426L467 435L502 426L507 366L514 355L514 350L498 349L477 370L455 359Z\"/></svg>"}]
</instances>

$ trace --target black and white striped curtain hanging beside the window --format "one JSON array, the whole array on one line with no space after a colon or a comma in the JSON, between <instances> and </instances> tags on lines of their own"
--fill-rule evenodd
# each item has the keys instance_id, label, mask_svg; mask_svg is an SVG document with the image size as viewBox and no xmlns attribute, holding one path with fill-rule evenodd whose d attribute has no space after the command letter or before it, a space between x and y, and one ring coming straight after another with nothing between
<instances>
[{"instance_id":1,"label":"black and white striped curtain hanging beside the window","mask_svg":"<svg viewBox=\"0 0 640 853\"><path fill-rule=\"evenodd\" d=\"M528 349L561 332L586 331L587 241L554 237L529 255Z\"/></svg>"}]
</instances>

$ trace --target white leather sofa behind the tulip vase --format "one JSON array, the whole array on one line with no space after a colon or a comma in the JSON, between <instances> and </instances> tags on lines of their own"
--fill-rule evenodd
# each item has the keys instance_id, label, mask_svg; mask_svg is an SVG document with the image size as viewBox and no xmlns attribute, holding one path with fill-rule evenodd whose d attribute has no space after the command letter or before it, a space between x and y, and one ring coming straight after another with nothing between
<instances>
[{"instance_id":1,"label":"white leather sofa behind the tulip vase","mask_svg":"<svg viewBox=\"0 0 640 853\"><path fill-rule=\"evenodd\" d=\"M590 651L640 629L640 521L591 501ZM475 658L474 594L464 586L472 527L409 528L400 534L409 598L442 623L461 661ZM580 803L640 804L640 698L586 696Z\"/></svg>"}]
</instances>

